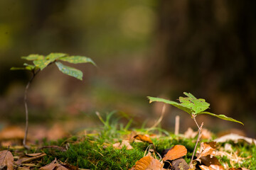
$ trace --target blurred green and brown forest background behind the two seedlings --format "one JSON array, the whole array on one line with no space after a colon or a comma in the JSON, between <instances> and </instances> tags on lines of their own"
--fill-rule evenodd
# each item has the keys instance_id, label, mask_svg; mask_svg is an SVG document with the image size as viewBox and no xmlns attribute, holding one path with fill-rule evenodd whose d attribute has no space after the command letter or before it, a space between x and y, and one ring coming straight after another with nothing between
<instances>
[{"instance_id":1,"label":"blurred green and brown forest background behind the two seedlings","mask_svg":"<svg viewBox=\"0 0 256 170\"><path fill-rule=\"evenodd\" d=\"M102 115L117 111L119 121L150 127L161 103L183 91L210 103L245 126L198 116L213 132L237 128L256 137L256 1L62 0L0 1L0 128L25 125L23 93L31 74L10 71L29 54L64 52L91 57L83 81L51 65L28 92L34 125L60 123L92 128ZM187 113L168 107L161 127L181 132L194 126ZM114 118L113 118L114 119ZM63 123L63 124L61 124Z\"/></svg>"}]
</instances>

